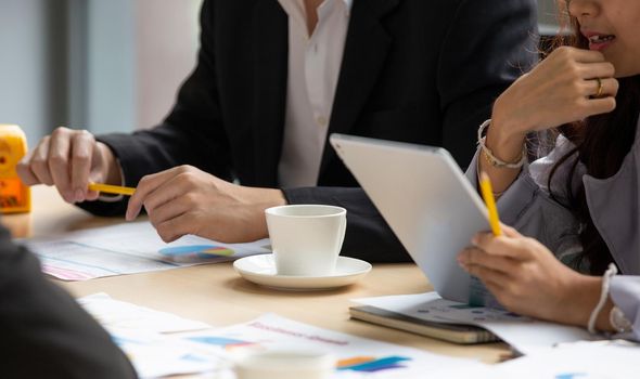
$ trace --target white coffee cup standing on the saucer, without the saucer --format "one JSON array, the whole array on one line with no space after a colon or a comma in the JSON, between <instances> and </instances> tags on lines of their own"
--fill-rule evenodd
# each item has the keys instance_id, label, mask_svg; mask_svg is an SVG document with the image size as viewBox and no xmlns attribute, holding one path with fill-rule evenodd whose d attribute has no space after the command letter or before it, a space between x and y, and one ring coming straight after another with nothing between
<instances>
[{"instance_id":1,"label":"white coffee cup standing on the saucer, without the saucer","mask_svg":"<svg viewBox=\"0 0 640 379\"><path fill-rule=\"evenodd\" d=\"M278 275L327 276L334 272L347 227L347 210L290 205L265 210Z\"/></svg>"}]
</instances>

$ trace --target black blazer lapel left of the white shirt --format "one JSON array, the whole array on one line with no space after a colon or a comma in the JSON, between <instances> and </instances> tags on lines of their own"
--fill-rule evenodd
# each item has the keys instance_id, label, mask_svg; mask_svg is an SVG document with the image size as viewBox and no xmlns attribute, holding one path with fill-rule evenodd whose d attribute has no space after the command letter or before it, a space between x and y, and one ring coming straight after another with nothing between
<instances>
[{"instance_id":1,"label":"black blazer lapel left of the white shirt","mask_svg":"<svg viewBox=\"0 0 640 379\"><path fill-rule=\"evenodd\" d=\"M258 0L253 12L253 141L255 183L276 186L282 148L289 66L289 18L277 0Z\"/></svg>"}]
</instances>

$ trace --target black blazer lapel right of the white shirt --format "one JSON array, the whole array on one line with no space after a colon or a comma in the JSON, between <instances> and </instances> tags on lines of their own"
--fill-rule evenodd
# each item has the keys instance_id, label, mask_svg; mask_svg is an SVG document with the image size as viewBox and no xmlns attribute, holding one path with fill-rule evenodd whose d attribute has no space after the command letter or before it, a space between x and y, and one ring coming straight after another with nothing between
<instances>
[{"instance_id":1,"label":"black blazer lapel right of the white shirt","mask_svg":"<svg viewBox=\"0 0 640 379\"><path fill-rule=\"evenodd\" d=\"M392 42L380 19L394 10L399 1L354 2L328 138L331 133L348 132L367 103ZM334 157L333 148L325 144L320 175Z\"/></svg>"}]
</instances>

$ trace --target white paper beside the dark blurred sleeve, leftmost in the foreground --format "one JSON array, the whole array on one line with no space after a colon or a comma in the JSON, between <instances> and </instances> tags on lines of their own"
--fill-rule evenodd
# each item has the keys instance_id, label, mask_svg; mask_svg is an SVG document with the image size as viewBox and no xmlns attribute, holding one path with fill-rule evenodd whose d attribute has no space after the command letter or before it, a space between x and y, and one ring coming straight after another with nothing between
<instances>
[{"instance_id":1,"label":"white paper beside the dark blurred sleeve, leftmost in the foreground","mask_svg":"<svg viewBox=\"0 0 640 379\"><path fill-rule=\"evenodd\" d=\"M106 329L178 332L212 327L206 323L183 318L171 313L114 300L106 293L86 296L77 301Z\"/></svg>"}]
</instances>

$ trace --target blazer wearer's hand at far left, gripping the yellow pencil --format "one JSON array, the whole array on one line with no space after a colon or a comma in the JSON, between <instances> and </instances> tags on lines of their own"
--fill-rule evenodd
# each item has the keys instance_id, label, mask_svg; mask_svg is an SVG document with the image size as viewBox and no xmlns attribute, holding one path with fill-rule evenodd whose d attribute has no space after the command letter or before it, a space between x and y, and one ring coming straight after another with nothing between
<instances>
[{"instance_id":1,"label":"blazer wearer's hand at far left, gripping the yellow pencil","mask_svg":"<svg viewBox=\"0 0 640 379\"><path fill-rule=\"evenodd\" d=\"M67 202L95 200L89 182L120 184L120 170L108 146L86 130L57 128L16 167L26 185L55 185Z\"/></svg>"}]
</instances>

